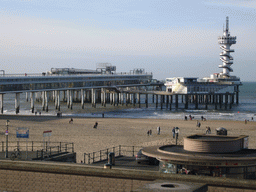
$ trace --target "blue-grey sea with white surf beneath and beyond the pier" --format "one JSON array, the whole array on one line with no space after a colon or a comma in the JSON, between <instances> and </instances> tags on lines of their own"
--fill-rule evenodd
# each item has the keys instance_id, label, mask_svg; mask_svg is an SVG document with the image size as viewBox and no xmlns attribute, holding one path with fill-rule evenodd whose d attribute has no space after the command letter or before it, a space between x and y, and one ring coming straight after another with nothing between
<instances>
[{"instance_id":1,"label":"blue-grey sea with white surf beneath and beyond the pier","mask_svg":"<svg viewBox=\"0 0 256 192\"><path fill-rule=\"evenodd\" d=\"M152 98L149 97L149 101ZM144 98L141 98L141 103L144 102ZM20 95L20 112L15 113L15 94L5 94L4 95L4 114L6 115L35 115L31 113L30 102L26 101L25 93ZM182 107L181 107L182 108ZM184 119L185 115L192 115L195 119L200 119L204 116L209 120L233 120L233 121L244 121L246 120L256 120L256 82L243 82L240 86L239 93L239 104L234 104L232 109L225 110L224 105L222 109L215 110L214 106L205 109L195 110L193 108L189 109L175 109L174 106L172 110L163 108L158 108L154 103L149 104L146 108L145 104L141 104L141 108L136 105L117 106L113 107L110 104L106 108L97 104L96 109L92 108L90 103L85 105L84 109L81 109L81 104L79 102L73 103L73 109L69 109L65 102L61 102L62 116L67 117L80 117L80 118L91 118L91 117L102 117L104 113L105 118L141 118L141 119ZM219 107L218 107L219 108ZM57 112L54 107L54 102L49 102L49 111L45 112L42 110L41 102L35 102L36 115L39 112L42 116L56 116Z\"/></svg>"}]
</instances>

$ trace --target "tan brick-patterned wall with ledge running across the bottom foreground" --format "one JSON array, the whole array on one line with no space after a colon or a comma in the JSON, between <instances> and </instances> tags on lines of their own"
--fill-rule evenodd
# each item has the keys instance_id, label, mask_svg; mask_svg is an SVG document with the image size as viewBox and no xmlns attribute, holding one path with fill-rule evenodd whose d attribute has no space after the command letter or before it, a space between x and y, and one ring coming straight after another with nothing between
<instances>
[{"instance_id":1,"label":"tan brick-patterned wall with ledge running across the bottom foreground","mask_svg":"<svg viewBox=\"0 0 256 192\"><path fill-rule=\"evenodd\" d=\"M0 161L2 191L133 191L156 179L204 183L209 185L210 192L256 190L256 182L251 180L103 169L82 164Z\"/></svg>"}]
</instances>

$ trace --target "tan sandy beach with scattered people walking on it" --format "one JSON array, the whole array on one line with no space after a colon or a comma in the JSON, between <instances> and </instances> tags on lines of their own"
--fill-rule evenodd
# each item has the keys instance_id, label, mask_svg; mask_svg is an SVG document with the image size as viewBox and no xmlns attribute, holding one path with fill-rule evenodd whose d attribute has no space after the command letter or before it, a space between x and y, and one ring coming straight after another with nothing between
<instances>
[{"instance_id":1,"label":"tan sandy beach with scattered people walking on it","mask_svg":"<svg viewBox=\"0 0 256 192\"><path fill-rule=\"evenodd\" d=\"M9 123L9 141L17 141L16 128L29 128L28 141L43 141L43 131L52 130L51 142L73 142L77 153L77 162L83 160L83 154L99 151L118 145L150 146L175 143L172 138L172 128L180 128L178 144L183 144L183 137L192 134L204 134L206 126L216 134L215 129L224 127L229 136L248 135L249 148L256 148L256 122L244 121L200 121L201 127L196 126L197 120L168 120L168 119L120 119L120 118L57 118L47 116L0 116L1 141L6 140L6 120ZM93 128L98 122L97 129ZM157 135L157 127L161 127ZM147 131L152 130L148 136Z\"/></svg>"}]
</instances>

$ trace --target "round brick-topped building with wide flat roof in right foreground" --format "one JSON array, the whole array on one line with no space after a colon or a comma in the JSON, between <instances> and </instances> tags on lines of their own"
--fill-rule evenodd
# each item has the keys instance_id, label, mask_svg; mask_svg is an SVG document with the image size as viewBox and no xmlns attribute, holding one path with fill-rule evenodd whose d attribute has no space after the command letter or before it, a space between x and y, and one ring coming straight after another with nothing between
<instances>
[{"instance_id":1,"label":"round brick-topped building with wide flat roof in right foreground","mask_svg":"<svg viewBox=\"0 0 256 192\"><path fill-rule=\"evenodd\" d=\"M142 153L158 159L164 173L256 178L256 149L248 149L244 135L192 135L184 138L184 146L152 146Z\"/></svg>"}]
</instances>

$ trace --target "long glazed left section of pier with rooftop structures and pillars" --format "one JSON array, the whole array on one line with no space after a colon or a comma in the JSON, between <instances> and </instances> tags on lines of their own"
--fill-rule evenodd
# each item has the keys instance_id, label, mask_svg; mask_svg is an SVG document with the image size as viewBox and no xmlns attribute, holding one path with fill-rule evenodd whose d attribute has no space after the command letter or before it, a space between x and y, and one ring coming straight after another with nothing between
<instances>
[{"instance_id":1,"label":"long glazed left section of pier with rooftop structures and pillars","mask_svg":"<svg viewBox=\"0 0 256 192\"><path fill-rule=\"evenodd\" d=\"M4 95L15 94L16 114L20 110L20 94L26 93L26 99L31 102L34 113L35 100L42 102L42 110L48 111L49 100L53 100L56 110L60 111L60 96L67 106L72 109L73 101L81 101L84 108L85 101L106 106L106 103L124 104L136 100L135 93L129 90L139 87L162 86L153 80L152 73L144 69L134 69L130 72L116 73L116 67L106 65L95 71L77 70L73 68L52 68L50 72L37 75L8 75L0 76L0 110L3 113ZM126 90L126 92L125 92ZM29 96L30 94L30 96Z\"/></svg>"}]
</instances>

